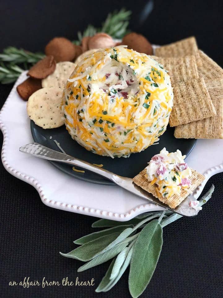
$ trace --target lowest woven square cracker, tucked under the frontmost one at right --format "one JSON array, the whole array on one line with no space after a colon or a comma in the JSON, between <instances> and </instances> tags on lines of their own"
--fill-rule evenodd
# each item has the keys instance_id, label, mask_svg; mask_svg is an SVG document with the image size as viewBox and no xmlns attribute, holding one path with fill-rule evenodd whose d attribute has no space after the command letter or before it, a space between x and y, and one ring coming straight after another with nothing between
<instances>
[{"instance_id":1,"label":"lowest woven square cracker, tucked under the frontmost one at right","mask_svg":"<svg viewBox=\"0 0 223 298\"><path fill-rule=\"evenodd\" d=\"M175 138L223 139L223 79L206 83L217 115L182 124L175 128Z\"/></svg>"}]
</instances>

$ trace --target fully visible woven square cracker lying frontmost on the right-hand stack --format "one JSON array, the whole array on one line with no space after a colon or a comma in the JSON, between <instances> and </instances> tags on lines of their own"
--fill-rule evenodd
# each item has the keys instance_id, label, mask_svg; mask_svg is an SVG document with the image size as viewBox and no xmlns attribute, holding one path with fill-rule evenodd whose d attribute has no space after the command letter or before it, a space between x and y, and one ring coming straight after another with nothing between
<instances>
[{"instance_id":1,"label":"fully visible woven square cracker lying frontmost on the right-hand stack","mask_svg":"<svg viewBox=\"0 0 223 298\"><path fill-rule=\"evenodd\" d=\"M204 79L190 80L173 87L173 109L170 126L190 123L216 115Z\"/></svg>"}]
</instances>

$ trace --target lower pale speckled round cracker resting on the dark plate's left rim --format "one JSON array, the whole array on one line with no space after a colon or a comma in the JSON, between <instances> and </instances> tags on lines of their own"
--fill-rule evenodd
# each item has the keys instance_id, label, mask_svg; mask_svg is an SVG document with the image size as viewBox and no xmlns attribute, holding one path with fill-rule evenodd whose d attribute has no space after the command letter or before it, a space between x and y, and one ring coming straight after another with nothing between
<instances>
[{"instance_id":1,"label":"lower pale speckled round cracker resting on the dark plate's left rim","mask_svg":"<svg viewBox=\"0 0 223 298\"><path fill-rule=\"evenodd\" d=\"M62 92L60 88L42 88L33 93L27 103L29 118L44 129L63 125Z\"/></svg>"}]
</instances>

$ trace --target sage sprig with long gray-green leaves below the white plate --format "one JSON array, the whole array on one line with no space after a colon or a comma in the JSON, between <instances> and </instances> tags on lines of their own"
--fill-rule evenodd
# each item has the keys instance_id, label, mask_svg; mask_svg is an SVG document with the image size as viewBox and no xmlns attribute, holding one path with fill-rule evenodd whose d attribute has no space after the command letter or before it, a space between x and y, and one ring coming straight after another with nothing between
<instances>
[{"instance_id":1,"label":"sage sprig with long gray-green leaves below the white plate","mask_svg":"<svg viewBox=\"0 0 223 298\"><path fill-rule=\"evenodd\" d=\"M213 191L212 185L199 200L200 206L211 198ZM163 228L181 217L172 211L157 211L140 214L126 222L99 219L92 227L106 229L75 240L74 243L81 246L60 254L86 262L77 272L112 259L96 292L109 291L130 265L129 292L136 298L146 289L155 271L163 245Z\"/></svg>"}]
</instances>

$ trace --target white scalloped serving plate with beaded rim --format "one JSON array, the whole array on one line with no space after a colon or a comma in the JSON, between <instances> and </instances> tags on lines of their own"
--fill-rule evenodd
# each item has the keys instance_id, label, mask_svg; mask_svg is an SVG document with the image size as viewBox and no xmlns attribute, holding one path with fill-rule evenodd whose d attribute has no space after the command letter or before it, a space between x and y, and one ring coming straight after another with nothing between
<instances>
[{"instance_id":1,"label":"white scalloped serving plate with beaded rim","mask_svg":"<svg viewBox=\"0 0 223 298\"><path fill-rule=\"evenodd\" d=\"M16 91L16 86L25 79L26 72L20 75L0 111L0 129L4 137L2 163L10 174L33 185L44 204L61 210L119 221L129 220L143 212L163 210L118 186L77 180L46 160L21 153L21 146L33 142L26 102ZM198 140L188 156L187 163L205 175L202 185L195 191L195 199L208 179L223 171L222 149L223 140Z\"/></svg>"}]
</instances>

